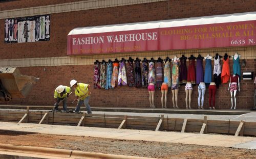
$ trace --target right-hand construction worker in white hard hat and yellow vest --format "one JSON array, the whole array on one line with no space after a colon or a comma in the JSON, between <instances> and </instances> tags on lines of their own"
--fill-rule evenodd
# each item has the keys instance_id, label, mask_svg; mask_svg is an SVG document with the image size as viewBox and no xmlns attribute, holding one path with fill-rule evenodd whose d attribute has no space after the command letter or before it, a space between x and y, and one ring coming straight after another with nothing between
<instances>
[{"instance_id":1,"label":"right-hand construction worker in white hard hat and yellow vest","mask_svg":"<svg viewBox=\"0 0 256 159\"><path fill-rule=\"evenodd\" d=\"M80 106L83 103L86 106L87 113L92 114L91 107L88 103L89 99L90 99L90 95L91 95L90 85L83 84L83 83L77 83L76 80L71 80L70 87L74 88L74 90L75 90L76 99L73 102L78 100L75 112L79 112Z\"/></svg>"}]
</instances>

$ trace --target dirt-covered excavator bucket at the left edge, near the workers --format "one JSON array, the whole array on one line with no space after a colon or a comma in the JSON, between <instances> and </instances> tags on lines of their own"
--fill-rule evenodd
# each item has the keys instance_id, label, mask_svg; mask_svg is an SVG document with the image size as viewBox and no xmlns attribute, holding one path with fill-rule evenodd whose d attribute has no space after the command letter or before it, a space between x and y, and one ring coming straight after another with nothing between
<instances>
[{"instance_id":1,"label":"dirt-covered excavator bucket at the left edge, near the workers","mask_svg":"<svg viewBox=\"0 0 256 159\"><path fill-rule=\"evenodd\" d=\"M0 100L25 98L39 78L22 75L16 67L0 67Z\"/></svg>"}]
</instances>

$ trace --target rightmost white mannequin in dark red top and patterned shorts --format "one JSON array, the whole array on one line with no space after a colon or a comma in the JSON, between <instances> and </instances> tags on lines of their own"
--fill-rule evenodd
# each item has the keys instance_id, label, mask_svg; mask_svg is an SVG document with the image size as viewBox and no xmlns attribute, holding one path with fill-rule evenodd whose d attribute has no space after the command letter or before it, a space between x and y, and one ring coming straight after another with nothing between
<instances>
[{"instance_id":1,"label":"rightmost white mannequin in dark red top and patterned shorts","mask_svg":"<svg viewBox=\"0 0 256 159\"><path fill-rule=\"evenodd\" d=\"M239 76L238 74L233 74L229 78L229 86L228 90L230 91L231 95L231 108L230 109L236 109L237 105L237 99L236 99L236 94L237 90L240 92L240 83L239 83ZM233 108L233 92L234 92L234 108Z\"/></svg>"}]
</instances>

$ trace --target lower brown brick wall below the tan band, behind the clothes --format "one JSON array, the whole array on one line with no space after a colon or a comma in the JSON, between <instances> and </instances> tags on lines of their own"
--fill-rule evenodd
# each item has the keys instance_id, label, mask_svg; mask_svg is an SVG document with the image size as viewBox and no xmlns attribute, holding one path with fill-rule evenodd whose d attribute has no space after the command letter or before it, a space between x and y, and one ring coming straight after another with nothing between
<instances>
[{"instance_id":1,"label":"lower brown brick wall below the tan band, behind the clothes","mask_svg":"<svg viewBox=\"0 0 256 159\"><path fill-rule=\"evenodd\" d=\"M241 62L240 62L241 63ZM221 63L222 65L222 63ZM230 73L232 74L232 60L230 60ZM205 66L205 61L203 62ZM212 68L214 62L212 61ZM172 67L172 66L171 66ZM188 67L188 63L187 63ZM10 104L32 104L32 105L51 105L53 104L53 92L58 85L69 86L73 78L78 82L91 85L92 96L90 99L91 107L133 107L147 108L150 106L148 92L146 88L131 88L127 86L117 87L110 90L93 89L93 65L78 66L52 66L45 67L21 67L23 74L40 77L29 96L25 99L14 99ZM253 71L256 73L256 59L246 60L246 66L241 66L241 71ZM241 80L241 89L237 93L237 109L250 109L253 105L253 80ZM198 106L198 85L193 87L191 97L191 107L196 109ZM228 84L221 84L216 93L216 108L229 109L231 107L230 92L227 90ZM155 104L161 108L161 91L155 91ZM74 93L68 102L74 99ZM204 96L204 106L208 108L209 93L206 89ZM180 86L178 94L178 104L180 108L185 108L185 86ZM75 104L74 104L75 106ZM167 108L173 108L172 92L167 94Z\"/></svg>"}]
</instances>

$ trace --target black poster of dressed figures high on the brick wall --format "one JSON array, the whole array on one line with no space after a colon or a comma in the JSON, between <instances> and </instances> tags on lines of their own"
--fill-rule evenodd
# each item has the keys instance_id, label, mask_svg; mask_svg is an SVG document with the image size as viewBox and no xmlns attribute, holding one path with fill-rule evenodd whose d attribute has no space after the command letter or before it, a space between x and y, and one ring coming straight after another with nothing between
<instances>
[{"instance_id":1,"label":"black poster of dressed figures high on the brick wall","mask_svg":"<svg viewBox=\"0 0 256 159\"><path fill-rule=\"evenodd\" d=\"M5 19L5 43L50 40L50 15Z\"/></svg>"}]
</instances>

